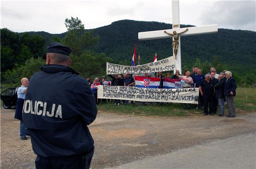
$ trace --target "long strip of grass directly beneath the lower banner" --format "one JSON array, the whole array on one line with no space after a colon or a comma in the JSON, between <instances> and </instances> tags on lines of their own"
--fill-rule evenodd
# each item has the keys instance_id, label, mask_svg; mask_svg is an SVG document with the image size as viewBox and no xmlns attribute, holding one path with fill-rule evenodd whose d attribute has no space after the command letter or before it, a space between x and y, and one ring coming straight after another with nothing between
<instances>
[{"instance_id":1,"label":"long strip of grass directly beneath the lower banner","mask_svg":"<svg viewBox=\"0 0 256 169\"><path fill-rule=\"evenodd\" d=\"M202 113L202 110L196 110L196 104L191 104L190 110L184 110L182 104L177 103L154 103L153 105L150 105L149 102L146 102L146 105L142 106L141 102L135 102L134 104L128 105L121 103L117 106L114 105L114 102L109 102L99 104L98 109L127 115L135 114L145 116L186 116Z\"/></svg>"}]
</instances>

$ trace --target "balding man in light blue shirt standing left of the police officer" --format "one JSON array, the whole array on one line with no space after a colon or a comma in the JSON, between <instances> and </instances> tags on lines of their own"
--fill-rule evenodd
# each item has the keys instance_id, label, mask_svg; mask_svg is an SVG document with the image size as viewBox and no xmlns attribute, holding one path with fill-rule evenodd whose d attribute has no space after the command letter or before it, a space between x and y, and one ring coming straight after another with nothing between
<instances>
[{"instance_id":1,"label":"balding man in light blue shirt standing left of the police officer","mask_svg":"<svg viewBox=\"0 0 256 169\"><path fill-rule=\"evenodd\" d=\"M23 123L22 120L22 110L23 110L23 104L25 101L25 96L26 96L26 89L28 86L28 79L26 77L21 79L21 86L19 87L18 91L17 91L17 95L18 95L18 99L17 99L17 104L16 104L16 110L15 110L15 115L14 118L20 120L19 123L19 130L20 130L20 139L22 140L27 140L26 135L26 127Z\"/></svg>"}]
</instances>

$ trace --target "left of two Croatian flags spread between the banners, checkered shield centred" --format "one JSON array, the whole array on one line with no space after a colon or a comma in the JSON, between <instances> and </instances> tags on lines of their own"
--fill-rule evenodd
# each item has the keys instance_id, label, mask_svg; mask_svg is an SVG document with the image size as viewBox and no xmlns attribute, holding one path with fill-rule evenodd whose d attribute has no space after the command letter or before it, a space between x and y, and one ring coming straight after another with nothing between
<instances>
[{"instance_id":1,"label":"left of two Croatian flags spread between the banners, checkered shield centred","mask_svg":"<svg viewBox=\"0 0 256 169\"><path fill-rule=\"evenodd\" d=\"M159 77L135 76L136 87L158 88L160 84Z\"/></svg>"}]
</instances>

